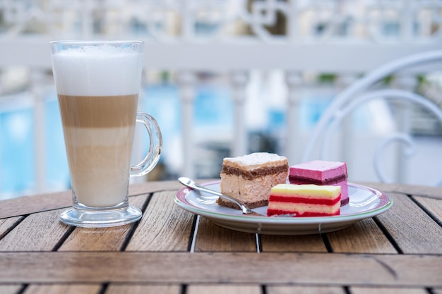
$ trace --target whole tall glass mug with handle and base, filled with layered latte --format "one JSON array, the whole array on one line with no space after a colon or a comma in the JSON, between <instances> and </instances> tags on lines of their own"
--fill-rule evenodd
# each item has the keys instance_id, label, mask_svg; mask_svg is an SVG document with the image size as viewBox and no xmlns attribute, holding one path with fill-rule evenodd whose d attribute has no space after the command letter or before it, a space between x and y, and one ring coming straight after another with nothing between
<instances>
[{"instance_id":1,"label":"whole tall glass mug with handle and base, filled with layered latte","mask_svg":"<svg viewBox=\"0 0 442 294\"><path fill-rule=\"evenodd\" d=\"M49 44L73 196L60 219L83 227L137 221L141 211L129 205L129 177L151 171L162 149L155 119L137 113L143 42ZM148 130L150 149L131 167L136 122Z\"/></svg>"}]
</instances>

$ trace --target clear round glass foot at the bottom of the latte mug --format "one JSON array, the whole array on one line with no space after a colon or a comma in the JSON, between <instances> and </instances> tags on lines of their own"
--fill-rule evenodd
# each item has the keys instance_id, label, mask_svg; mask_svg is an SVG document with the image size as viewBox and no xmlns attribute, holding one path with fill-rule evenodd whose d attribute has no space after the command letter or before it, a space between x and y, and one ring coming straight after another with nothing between
<instances>
[{"instance_id":1,"label":"clear round glass foot at the bottom of the latte mug","mask_svg":"<svg viewBox=\"0 0 442 294\"><path fill-rule=\"evenodd\" d=\"M60 214L60 221L69 226L106 228L123 226L141 219L140 209L131 205L124 207L70 207Z\"/></svg>"}]
</instances>

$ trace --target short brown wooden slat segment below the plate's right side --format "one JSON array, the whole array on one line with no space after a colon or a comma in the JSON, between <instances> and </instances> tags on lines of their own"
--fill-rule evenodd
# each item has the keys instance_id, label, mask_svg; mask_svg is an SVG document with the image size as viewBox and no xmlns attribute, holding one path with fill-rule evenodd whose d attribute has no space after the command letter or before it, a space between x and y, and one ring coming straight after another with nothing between
<instances>
[{"instance_id":1,"label":"short brown wooden slat segment below the plate's right side","mask_svg":"<svg viewBox=\"0 0 442 294\"><path fill-rule=\"evenodd\" d=\"M363 219L342 231L327 234L333 252L397 253L373 219Z\"/></svg>"}]
</instances>

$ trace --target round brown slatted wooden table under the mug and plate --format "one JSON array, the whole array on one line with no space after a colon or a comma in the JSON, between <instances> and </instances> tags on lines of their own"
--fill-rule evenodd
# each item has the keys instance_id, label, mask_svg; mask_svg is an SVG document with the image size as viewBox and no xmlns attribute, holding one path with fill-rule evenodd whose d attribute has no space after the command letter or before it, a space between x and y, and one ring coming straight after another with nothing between
<instances>
[{"instance_id":1,"label":"round brown slatted wooden table under the mug and plate","mask_svg":"<svg viewBox=\"0 0 442 294\"><path fill-rule=\"evenodd\" d=\"M366 185L393 208L304 236L220 228L174 204L177 181L131 186L143 219L116 228L60 223L70 192L4 200L0 293L441 294L442 188Z\"/></svg>"}]
</instances>

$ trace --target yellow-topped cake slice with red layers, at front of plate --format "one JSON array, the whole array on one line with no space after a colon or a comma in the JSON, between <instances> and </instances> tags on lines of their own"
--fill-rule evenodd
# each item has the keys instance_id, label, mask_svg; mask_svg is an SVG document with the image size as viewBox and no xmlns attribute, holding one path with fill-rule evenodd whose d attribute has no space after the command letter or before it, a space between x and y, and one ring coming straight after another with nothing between
<instances>
[{"instance_id":1,"label":"yellow-topped cake slice with red layers, at front of plate","mask_svg":"<svg viewBox=\"0 0 442 294\"><path fill-rule=\"evenodd\" d=\"M340 186L275 185L270 192L267 215L335 216L340 214Z\"/></svg>"}]
</instances>

